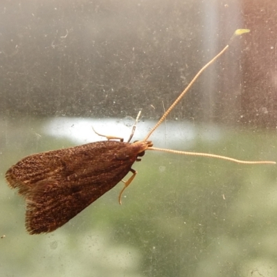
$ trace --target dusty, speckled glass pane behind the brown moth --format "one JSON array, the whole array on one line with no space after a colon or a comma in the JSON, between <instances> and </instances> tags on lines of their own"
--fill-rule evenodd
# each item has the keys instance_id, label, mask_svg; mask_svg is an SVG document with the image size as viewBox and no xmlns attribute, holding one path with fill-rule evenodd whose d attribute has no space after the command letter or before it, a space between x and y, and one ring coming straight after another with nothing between
<instances>
[{"instance_id":1,"label":"dusty, speckled glass pane behind the brown moth","mask_svg":"<svg viewBox=\"0 0 277 277\"><path fill-rule=\"evenodd\" d=\"M276 1L1 1L1 276L276 276L276 166L147 151L132 184L28 235L5 172L101 134L244 160L276 156ZM127 175L131 176L130 174ZM125 177L127 179L127 177Z\"/></svg>"}]
</instances>

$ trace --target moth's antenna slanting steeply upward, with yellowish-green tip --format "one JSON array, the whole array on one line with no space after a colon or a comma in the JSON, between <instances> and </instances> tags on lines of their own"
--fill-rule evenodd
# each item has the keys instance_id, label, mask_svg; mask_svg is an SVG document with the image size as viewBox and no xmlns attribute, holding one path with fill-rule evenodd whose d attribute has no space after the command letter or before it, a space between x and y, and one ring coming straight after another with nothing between
<instances>
[{"instance_id":1,"label":"moth's antenna slanting steeply upward, with yellowish-green tip","mask_svg":"<svg viewBox=\"0 0 277 277\"><path fill-rule=\"evenodd\" d=\"M238 29L235 30L235 33L233 33L231 39L229 39L229 44L231 44L231 42L233 41L233 39L235 37L237 37L238 35L242 35L244 33L249 33L250 30L249 29ZM184 97L184 95L186 94L186 92L190 89L190 87L195 83L195 81L197 80L197 78L199 78L199 75L201 75L203 73L203 71L210 66L211 64L213 64L213 62L215 62L215 60L217 60L228 48L229 48L229 44L227 44L222 51L220 51L220 53L218 53L215 57L213 57L212 60L210 60L210 62L208 62L207 64L205 64L202 69L200 69L198 71L198 73L195 75L195 77L193 78L193 80L190 81L190 83L188 84L188 86L186 87L186 89L184 89L184 91L179 95L179 97L172 103L172 105L168 108L168 110L163 114L163 116L161 116L161 119L158 121L158 123L152 128L152 130L148 133L147 136L145 136L145 139L143 141L147 141L148 138L152 135L152 133L154 132L155 129L157 129L157 127L159 127L159 125L161 125L161 123L163 122L163 120L165 120L166 116L168 116L168 114L170 113L170 111L172 111L172 109L174 109L174 107L180 102L181 98Z\"/></svg>"}]
</instances>

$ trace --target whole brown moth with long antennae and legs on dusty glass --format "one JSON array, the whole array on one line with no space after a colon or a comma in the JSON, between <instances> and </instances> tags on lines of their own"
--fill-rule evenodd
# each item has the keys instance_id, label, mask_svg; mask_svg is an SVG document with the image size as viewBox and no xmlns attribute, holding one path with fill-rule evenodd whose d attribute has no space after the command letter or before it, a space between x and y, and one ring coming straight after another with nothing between
<instances>
[{"instance_id":1,"label":"whole brown moth with long antennae and legs on dusty glass","mask_svg":"<svg viewBox=\"0 0 277 277\"><path fill-rule=\"evenodd\" d=\"M236 30L230 42L234 37L248 32L247 29ZM123 181L128 172L132 172L132 176L127 181L123 181L124 187L118 197L121 203L123 190L129 186L137 173L132 166L135 161L141 161L146 150L215 157L238 163L274 164L274 161L240 161L213 154L154 148L152 141L149 141L154 130L183 98L199 75L229 48L229 44L200 69L143 141L130 142L139 120L139 113L127 142L106 136L107 141L32 154L8 169L6 172L8 185L11 188L17 188L19 195L26 200L28 233L39 234L54 231L107 193L118 182Z\"/></svg>"}]
</instances>

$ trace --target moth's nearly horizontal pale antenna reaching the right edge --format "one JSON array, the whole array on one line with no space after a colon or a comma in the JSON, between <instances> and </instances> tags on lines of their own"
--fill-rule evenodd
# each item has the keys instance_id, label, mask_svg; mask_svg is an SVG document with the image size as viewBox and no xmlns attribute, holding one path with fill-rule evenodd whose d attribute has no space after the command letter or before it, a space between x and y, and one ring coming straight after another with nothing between
<instances>
[{"instance_id":1,"label":"moth's nearly horizontal pale antenna reaching the right edge","mask_svg":"<svg viewBox=\"0 0 277 277\"><path fill-rule=\"evenodd\" d=\"M226 161L233 161L234 163L244 163L244 164L276 164L275 161L242 161L238 159L233 159L225 156L215 155L215 154L208 154L208 153L199 153L199 152L186 152L186 151L177 151L177 150L170 150L170 149L164 149L164 148L153 148L149 147L148 150L155 150L155 151L161 151L161 152L168 152L168 153L174 153L174 154L182 154L182 155L190 155L190 156L200 156L200 157L211 157L211 158L217 158L222 159Z\"/></svg>"}]
</instances>

